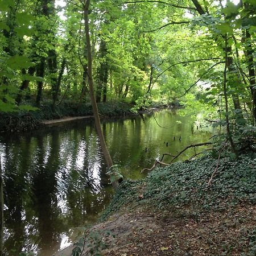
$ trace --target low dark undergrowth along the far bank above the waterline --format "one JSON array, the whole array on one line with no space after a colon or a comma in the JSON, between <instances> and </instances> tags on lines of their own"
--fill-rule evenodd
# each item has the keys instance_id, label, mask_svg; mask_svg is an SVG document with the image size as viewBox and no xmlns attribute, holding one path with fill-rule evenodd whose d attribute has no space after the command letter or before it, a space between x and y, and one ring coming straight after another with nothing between
<instances>
[{"instance_id":1,"label":"low dark undergrowth along the far bank above the waterline","mask_svg":"<svg viewBox=\"0 0 256 256\"><path fill-rule=\"evenodd\" d=\"M98 111L102 117L120 117L133 114L130 111L132 107L133 105L126 102L101 102L98 104ZM0 132L32 130L42 126L40 123L42 120L87 115L93 115L89 103L64 101L53 109L51 102L46 101L38 110L0 113Z\"/></svg>"}]
</instances>

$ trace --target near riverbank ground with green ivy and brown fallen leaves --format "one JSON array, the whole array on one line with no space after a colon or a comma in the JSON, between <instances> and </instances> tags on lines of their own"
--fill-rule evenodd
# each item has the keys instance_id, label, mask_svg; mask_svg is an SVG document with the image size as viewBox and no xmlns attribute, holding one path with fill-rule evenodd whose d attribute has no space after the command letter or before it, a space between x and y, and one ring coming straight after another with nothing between
<instances>
[{"instance_id":1,"label":"near riverbank ground with green ivy and brown fallen leaves","mask_svg":"<svg viewBox=\"0 0 256 256\"><path fill-rule=\"evenodd\" d=\"M256 156L224 156L208 185L216 164L205 157L124 181L75 255L256 255Z\"/></svg>"}]
</instances>

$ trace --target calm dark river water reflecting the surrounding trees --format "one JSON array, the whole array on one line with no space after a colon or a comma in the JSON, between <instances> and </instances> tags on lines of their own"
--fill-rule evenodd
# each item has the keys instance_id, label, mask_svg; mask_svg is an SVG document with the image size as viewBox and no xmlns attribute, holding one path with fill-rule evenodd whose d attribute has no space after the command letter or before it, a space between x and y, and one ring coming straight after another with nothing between
<instances>
[{"instance_id":1,"label":"calm dark river water reflecting the surrounding trees","mask_svg":"<svg viewBox=\"0 0 256 256\"><path fill-rule=\"evenodd\" d=\"M197 130L192 118L178 113L162 110L102 122L110 155L126 178L143 177L140 171L163 153L176 154L209 139L210 129ZM180 159L193 154L191 149ZM113 195L93 120L3 137L1 160L7 255L48 256L63 249L75 239L76 228L93 223Z\"/></svg>"}]
</instances>

